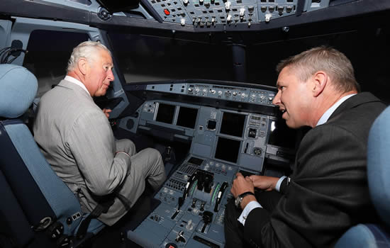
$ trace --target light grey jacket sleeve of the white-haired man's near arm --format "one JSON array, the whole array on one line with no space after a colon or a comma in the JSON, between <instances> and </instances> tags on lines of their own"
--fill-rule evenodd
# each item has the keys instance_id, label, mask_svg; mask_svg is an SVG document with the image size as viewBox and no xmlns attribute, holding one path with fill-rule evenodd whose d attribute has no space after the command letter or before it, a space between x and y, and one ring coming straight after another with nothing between
<instances>
[{"instance_id":1,"label":"light grey jacket sleeve of the white-haired man's near arm","mask_svg":"<svg viewBox=\"0 0 390 248\"><path fill-rule=\"evenodd\" d=\"M130 158L116 154L116 141L103 112L82 113L71 127L67 142L87 188L96 196L112 193L126 179Z\"/></svg>"}]
</instances>

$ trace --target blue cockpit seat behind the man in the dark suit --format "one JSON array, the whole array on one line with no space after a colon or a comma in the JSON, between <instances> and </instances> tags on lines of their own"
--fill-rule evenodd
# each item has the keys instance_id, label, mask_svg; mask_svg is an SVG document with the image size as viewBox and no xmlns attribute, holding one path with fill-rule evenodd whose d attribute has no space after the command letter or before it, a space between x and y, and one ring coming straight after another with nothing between
<instances>
[{"instance_id":1,"label":"blue cockpit seat behind the man in the dark suit","mask_svg":"<svg viewBox=\"0 0 390 248\"><path fill-rule=\"evenodd\" d=\"M336 248L390 247L390 107L378 116L369 132L367 175L369 193L381 224L351 227L338 240Z\"/></svg>"}]
</instances>

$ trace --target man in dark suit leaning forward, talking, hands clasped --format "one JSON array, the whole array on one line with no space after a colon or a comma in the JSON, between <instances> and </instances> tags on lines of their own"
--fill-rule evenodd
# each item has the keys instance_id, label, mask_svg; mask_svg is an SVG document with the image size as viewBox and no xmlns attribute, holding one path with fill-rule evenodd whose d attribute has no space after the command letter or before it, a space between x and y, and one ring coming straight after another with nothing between
<instances>
[{"instance_id":1,"label":"man in dark suit leaning forward, talking, hands clasped","mask_svg":"<svg viewBox=\"0 0 390 248\"><path fill-rule=\"evenodd\" d=\"M225 210L226 247L332 247L352 225L375 220L367 138L386 106L359 93L350 60L330 47L290 57L277 72L273 103L282 118L290 128L312 129L291 176L237 174L231 192L238 204Z\"/></svg>"}]
</instances>

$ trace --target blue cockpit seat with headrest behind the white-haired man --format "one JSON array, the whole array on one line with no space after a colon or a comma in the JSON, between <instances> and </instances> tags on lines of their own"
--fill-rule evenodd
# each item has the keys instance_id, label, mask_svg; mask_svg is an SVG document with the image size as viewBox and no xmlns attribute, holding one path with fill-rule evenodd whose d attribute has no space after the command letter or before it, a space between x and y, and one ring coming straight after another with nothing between
<instances>
[{"instance_id":1,"label":"blue cockpit seat with headrest behind the white-haired man","mask_svg":"<svg viewBox=\"0 0 390 248\"><path fill-rule=\"evenodd\" d=\"M28 69L0 64L0 247L77 247L104 224L92 219L87 234L73 238L88 214L18 119L37 89Z\"/></svg>"}]
</instances>

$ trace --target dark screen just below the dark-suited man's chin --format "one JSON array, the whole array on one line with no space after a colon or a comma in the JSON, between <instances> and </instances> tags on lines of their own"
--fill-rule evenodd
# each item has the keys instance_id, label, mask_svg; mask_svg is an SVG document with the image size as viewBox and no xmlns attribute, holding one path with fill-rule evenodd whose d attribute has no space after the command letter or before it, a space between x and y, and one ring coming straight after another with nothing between
<instances>
[{"instance_id":1,"label":"dark screen just below the dark-suited man's chin","mask_svg":"<svg viewBox=\"0 0 390 248\"><path fill-rule=\"evenodd\" d=\"M269 145L277 147L295 148L296 130L289 128L286 121L272 120L269 127Z\"/></svg>"}]
</instances>

